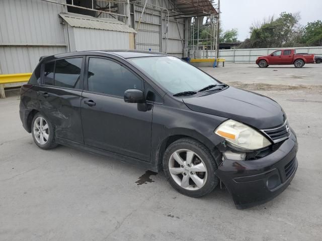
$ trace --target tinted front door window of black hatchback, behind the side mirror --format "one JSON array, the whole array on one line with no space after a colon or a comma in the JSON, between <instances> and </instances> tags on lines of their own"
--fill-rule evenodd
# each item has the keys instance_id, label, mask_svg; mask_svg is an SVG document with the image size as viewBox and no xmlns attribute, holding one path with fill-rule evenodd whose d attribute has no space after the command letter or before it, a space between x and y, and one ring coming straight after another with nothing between
<instances>
[{"instance_id":1,"label":"tinted front door window of black hatchback, behind the side mirror","mask_svg":"<svg viewBox=\"0 0 322 241\"><path fill-rule=\"evenodd\" d=\"M123 97L127 89L142 89L142 81L112 60L89 58L89 91Z\"/></svg>"}]
</instances>

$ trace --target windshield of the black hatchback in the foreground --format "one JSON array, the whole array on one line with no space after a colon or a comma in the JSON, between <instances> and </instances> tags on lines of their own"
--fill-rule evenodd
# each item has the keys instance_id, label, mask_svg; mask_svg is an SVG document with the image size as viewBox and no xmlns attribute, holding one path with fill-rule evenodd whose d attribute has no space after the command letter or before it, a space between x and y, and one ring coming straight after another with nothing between
<instances>
[{"instance_id":1,"label":"windshield of the black hatchback in the foreground","mask_svg":"<svg viewBox=\"0 0 322 241\"><path fill-rule=\"evenodd\" d=\"M172 93L198 91L220 84L198 68L172 56L133 58L129 61Z\"/></svg>"}]
</instances>

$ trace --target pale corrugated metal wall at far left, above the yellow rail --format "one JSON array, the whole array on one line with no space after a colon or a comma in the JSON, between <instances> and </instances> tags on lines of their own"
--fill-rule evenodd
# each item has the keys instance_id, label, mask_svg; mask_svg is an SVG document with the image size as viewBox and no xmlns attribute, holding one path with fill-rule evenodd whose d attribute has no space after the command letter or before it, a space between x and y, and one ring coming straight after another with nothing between
<instances>
[{"instance_id":1,"label":"pale corrugated metal wall at far left, above the yellow rail","mask_svg":"<svg viewBox=\"0 0 322 241\"><path fill-rule=\"evenodd\" d=\"M42 55L66 52L61 5L1 0L0 73L31 72Z\"/></svg>"}]
</instances>

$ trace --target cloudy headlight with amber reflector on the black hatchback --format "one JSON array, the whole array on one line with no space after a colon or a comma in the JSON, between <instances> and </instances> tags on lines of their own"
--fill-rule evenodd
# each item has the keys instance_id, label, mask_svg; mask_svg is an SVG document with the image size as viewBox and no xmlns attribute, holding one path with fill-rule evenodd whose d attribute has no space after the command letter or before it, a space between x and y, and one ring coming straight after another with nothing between
<instances>
[{"instance_id":1,"label":"cloudy headlight with amber reflector on the black hatchback","mask_svg":"<svg viewBox=\"0 0 322 241\"><path fill-rule=\"evenodd\" d=\"M262 134L232 119L223 122L214 133L223 137L228 143L239 149L253 151L271 145L271 142Z\"/></svg>"}]
</instances>

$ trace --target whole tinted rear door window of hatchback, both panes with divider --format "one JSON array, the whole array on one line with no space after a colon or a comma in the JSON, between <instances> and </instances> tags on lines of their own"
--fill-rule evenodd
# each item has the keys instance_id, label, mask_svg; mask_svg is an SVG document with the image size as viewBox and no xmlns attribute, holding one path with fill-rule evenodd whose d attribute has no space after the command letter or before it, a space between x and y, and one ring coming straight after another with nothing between
<instances>
[{"instance_id":1,"label":"whole tinted rear door window of hatchback, both panes with divider","mask_svg":"<svg viewBox=\"0 0 322 241\"><path fill-rule=\"evenodd\" d=\"M44 64L44 84L81 88L82 58L60 59Z\"/></svg>"}]
</instances>

